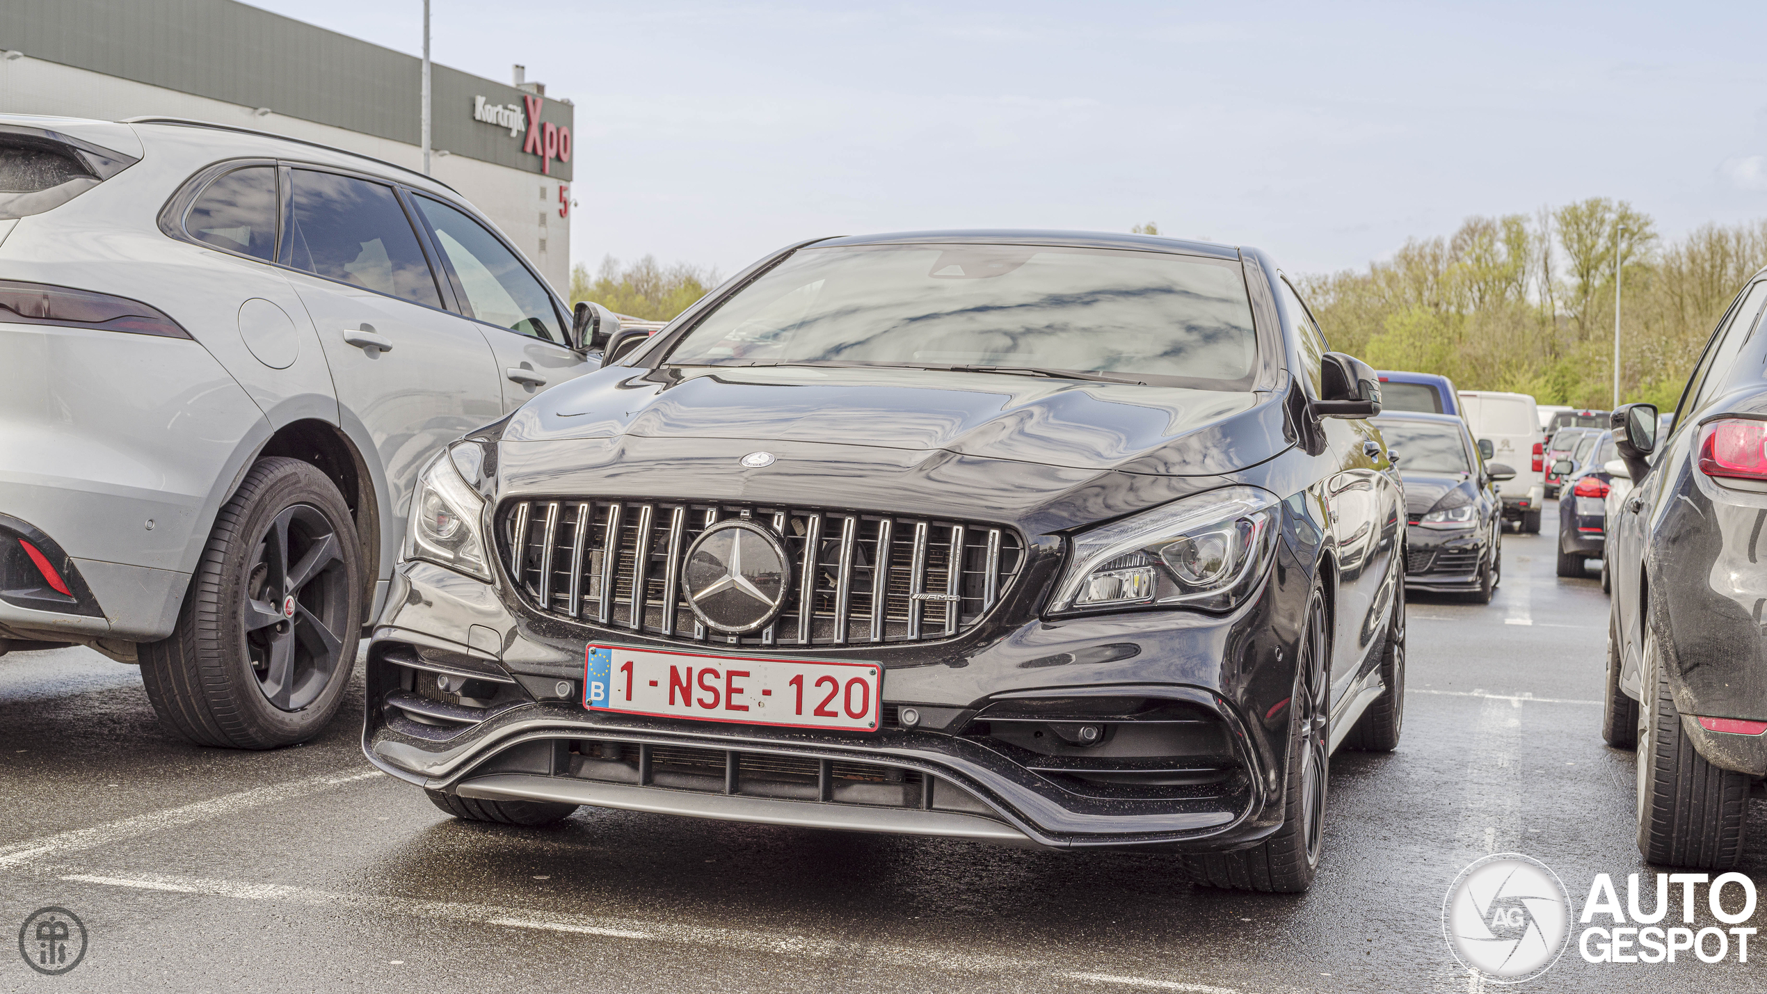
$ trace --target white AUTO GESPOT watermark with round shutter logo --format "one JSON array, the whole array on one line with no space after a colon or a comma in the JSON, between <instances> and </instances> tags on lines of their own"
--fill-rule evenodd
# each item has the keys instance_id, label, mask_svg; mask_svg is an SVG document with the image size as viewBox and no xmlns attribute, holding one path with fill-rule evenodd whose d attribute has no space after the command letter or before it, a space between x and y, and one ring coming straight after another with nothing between
<instances>
[{"instance_id":1,"label":"white AUTO GESPOT watermark with round shutter logo","mask_svg":"<svg viewBox=\"0 0 1767 994\"><path fill-rule=\"evenodd\" d=\"M1650 874L1643 874L1649 879ZM1442 900L1442 936L1467 969L1497 983L1521 983L1546 973L1573 943L1587 962L1749 960L1744 925L1755 916L1755 881L1744 874L1654 874L1656 893L1640 895L1640 874L1626 879L1626 904L1610 874L1596 874L1581 915L1558 874L1520 853L1477 860L1454 877ZM1705 909L1725 927L1693 927L1705 886ZM1650 909L1642 899L1650 900ZM1672 925L1673 906L1682 925ZM1573 922L1576 918L1576 922ZM1599 923L1597 923L1599 922ZM1657 925L1663 922L1663 925Z\"/></svg>"}]
</instances>

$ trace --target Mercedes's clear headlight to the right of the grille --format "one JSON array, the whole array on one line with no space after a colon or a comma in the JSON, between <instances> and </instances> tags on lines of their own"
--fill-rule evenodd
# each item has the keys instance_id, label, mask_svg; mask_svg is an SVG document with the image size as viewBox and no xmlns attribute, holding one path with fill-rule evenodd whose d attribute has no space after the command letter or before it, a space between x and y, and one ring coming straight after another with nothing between
<instances>
[{"instance_id":1,"label":"Mercedes's clear headlight to the right of the grille","mask_svg":"<svg viewBox=\"0 0 1767 994\"><path fill-rule=\"evenodd\" d=\"M1076 535L1050 611L1228 611L1270 565L1276 503L1256 487L1223 487Z\"/></svg>"}]
</instances>

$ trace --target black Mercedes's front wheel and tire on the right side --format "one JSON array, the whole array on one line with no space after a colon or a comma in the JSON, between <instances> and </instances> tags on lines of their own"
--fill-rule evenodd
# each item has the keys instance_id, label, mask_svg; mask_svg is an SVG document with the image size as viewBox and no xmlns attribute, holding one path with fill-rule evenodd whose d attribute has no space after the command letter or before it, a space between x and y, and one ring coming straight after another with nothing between
<instances>
[{"instance_id":1,"label":"black Mercedes's front wheel and tire on the right side","mask_svg":"<svg viewBox=\"0 0 1767 994\"><path fill-rule=\"evenodd\" d=\"M1313 886L1325 842L1325 793L1331 779L1329 620L1325 597L1313 591L1302 659L1288 720L1288 775L1283 826L1251 849L1180 856L1180 872L1196 885L1267 893L1302 893Z\"/></svg>"}]
</instances>

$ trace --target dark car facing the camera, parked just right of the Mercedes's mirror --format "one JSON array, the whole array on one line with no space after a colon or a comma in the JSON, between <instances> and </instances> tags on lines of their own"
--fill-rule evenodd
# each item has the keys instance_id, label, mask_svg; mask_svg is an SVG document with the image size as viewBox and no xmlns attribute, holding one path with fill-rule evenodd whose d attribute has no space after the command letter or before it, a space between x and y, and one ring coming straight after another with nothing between
<instances>
[{"instance_id":1,"label":"dark car facing the camera, parked just right of the Mercedes's mirror","mask_svg":"<svg viewBox=\"0 0 1767 994\"><path fill-rule=\"evenodd\" d=\"M1467 422L1452 415L1387 411L1375 425L1405 478L1405 588L1490 604L1504 577L1497 484L1516 471L1486 464Z\"/></svg>"}]
</instances>

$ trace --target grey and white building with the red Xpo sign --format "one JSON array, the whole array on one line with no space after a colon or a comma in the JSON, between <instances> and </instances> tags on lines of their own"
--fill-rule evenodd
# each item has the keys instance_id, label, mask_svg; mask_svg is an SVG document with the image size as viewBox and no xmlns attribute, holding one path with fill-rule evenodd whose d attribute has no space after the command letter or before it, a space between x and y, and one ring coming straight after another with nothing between
<instances>
[{"instance_id":1,"label":"grey and white building with the red Xpo sign","mask_svg":"<svg viewBox=\"0 0 1767 994\"><path fill-rule=\"evenodd\" d=\"M429 175L571 288L574 108L431 65ZM422 169L422 60L233 0L5 0L0 113L182 117Z\"/></svg>"}]
</instances>

